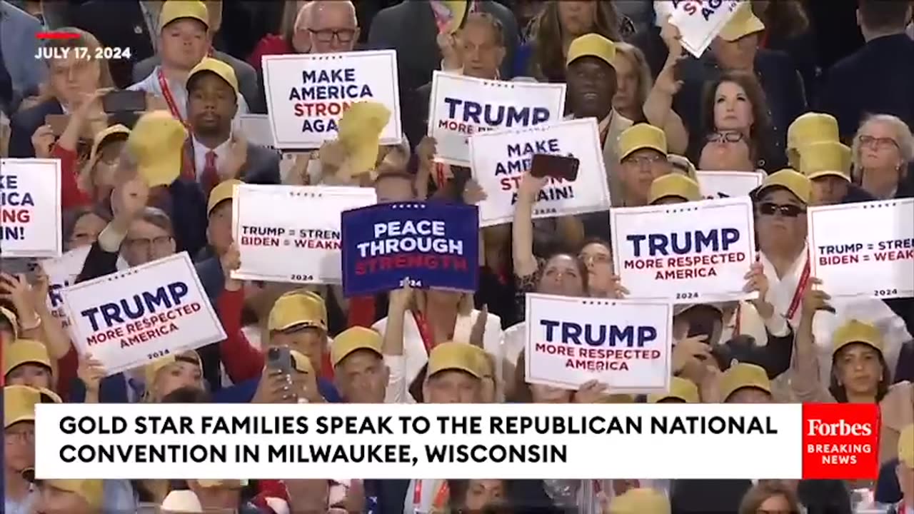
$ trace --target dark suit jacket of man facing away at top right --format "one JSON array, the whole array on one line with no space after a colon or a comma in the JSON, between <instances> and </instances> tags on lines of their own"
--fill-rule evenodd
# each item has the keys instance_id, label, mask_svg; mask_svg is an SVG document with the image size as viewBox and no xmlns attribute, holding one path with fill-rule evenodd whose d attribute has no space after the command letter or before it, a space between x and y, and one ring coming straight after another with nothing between
<instances>
[{"instance_id":1,"label":"dark suit jacket of man facing away at top right","mask_svg":"<svg viewBox=\"0 0 914 514\"><path fill-rule=\"evenodd\" d=\"M819 109L838 119L842 138L867 113L894 114L914 126L914 41L877 37L834 64L820 88Z\"/></svg>"}]
</instances>

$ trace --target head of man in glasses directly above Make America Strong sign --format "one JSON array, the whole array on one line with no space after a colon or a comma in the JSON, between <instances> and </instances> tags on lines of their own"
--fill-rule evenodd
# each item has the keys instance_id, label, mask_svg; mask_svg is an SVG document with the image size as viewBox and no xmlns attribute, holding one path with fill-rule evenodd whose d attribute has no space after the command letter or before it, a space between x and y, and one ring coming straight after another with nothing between
<instances>
[{"instance_id":1,"label":"head of man in glasses directly above Make America Strong sign","mask_svg":"<svg viewBox=\"0 0 914 514\"><path fill-rule=\"evenodd\" d=\"M348 0L315 0L311 4L311 53L351 52L358 41L356 6Z\"/></svg>"}]
</instances>

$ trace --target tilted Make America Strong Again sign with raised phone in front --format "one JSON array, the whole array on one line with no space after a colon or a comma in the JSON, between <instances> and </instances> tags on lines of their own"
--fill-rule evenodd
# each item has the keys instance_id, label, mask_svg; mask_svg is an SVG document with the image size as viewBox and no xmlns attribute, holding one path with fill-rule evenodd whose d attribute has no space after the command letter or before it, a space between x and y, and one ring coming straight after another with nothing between
<instances>
[{"instance_id":1,"label":"tilted Make America Strong Again sign with raised phone in front","mask_svg":"<svg viewBox=\"0 0 914 514\"><path fill-rule=\"evenodd\" d=\"M539 192L533 210L535 220L610 209L597 121L585 118L470 137L473 178L487 196L479 203L481 226L514 220L517 187L535 154L573 156L580 161L578 178L573 182L549 178Z\"/></svg>"}]
</instances>

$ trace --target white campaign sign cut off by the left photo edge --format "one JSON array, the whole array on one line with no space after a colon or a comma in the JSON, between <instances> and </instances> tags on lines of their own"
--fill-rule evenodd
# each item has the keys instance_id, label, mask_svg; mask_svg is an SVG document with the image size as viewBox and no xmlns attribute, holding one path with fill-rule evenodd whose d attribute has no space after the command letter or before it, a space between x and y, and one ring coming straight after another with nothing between
<instances>
[{"instance_id":1,"label":"white campaign sign cut off by the left photo edge","mask_svg":"<svg viewBox=\"0 0 914 514\"><path fill-rule=\"evenodd\" d=\"M60 161L0 159L0 255L57 257Z\"/></svg>"}]
</instances>

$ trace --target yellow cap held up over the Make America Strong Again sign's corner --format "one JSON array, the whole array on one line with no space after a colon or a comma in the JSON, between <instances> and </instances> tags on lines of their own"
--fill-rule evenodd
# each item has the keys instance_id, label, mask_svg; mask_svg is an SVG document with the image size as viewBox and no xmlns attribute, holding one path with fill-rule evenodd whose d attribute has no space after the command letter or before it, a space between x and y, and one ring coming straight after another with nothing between
<instances>
[{"instance_id":1,"label":"yellow cap held up over the Make America Strong Again sign's corner","mask_svg":"<svg viewBox=\"0 0 914 514\"><path fill-rule=\"evenodd\" d=\"M337 138L349 153L349 173L375 169L381 131L389 121L390 110L379 102L356 102L343 112Z\"/></svg>"}]
</instances>

